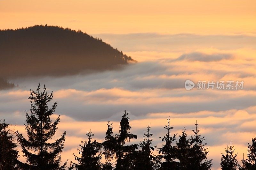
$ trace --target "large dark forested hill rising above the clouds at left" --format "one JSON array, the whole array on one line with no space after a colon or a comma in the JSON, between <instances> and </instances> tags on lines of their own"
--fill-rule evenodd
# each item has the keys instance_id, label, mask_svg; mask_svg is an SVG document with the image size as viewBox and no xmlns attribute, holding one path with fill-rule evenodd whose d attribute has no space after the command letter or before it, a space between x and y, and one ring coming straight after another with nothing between
<instances>
[{"instance_id":1,"label":"large dark forested hill rising above the clouds at left","mask_svg":"<svg viewBox=\"0 0 256 170\"><path fill-rule=\"evenodd\" d=\"M62 76L134 61L102 40L58 26L0 30L0 78Z\"/></svg>"}]
</instances>

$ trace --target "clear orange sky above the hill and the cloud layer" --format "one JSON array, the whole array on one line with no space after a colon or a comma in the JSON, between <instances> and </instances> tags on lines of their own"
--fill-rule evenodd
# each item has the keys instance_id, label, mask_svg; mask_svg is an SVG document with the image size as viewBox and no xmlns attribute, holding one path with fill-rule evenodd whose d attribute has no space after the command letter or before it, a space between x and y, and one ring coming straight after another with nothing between
<instances>
[{"instance_id":1,"label":"clear orange sky above the hill and the cloud layer","mask_svg":"<svg viewBox=\"0 0 256 170\"><path fill-rule=\"evenodd\" d=\"M94 33L255 33L256 2L0 1L0 27L58 25Z\"/></svg>"}]
</instances>

